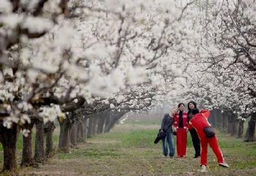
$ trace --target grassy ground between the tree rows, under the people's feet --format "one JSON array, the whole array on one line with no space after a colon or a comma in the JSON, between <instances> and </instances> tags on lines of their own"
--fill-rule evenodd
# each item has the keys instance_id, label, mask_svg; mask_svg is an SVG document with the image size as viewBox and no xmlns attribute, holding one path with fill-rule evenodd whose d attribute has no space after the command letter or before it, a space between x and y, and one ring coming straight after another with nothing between
<instances>
[{"instance_id":1,"label":"grassy ground between the tree rows, under the people's feet","mask_svg":"<svg viewBox=\"0 0 256 176\"><path fill-rule=\"evenodd\" d=\"M111 133L79 143L69 154L56 154L40 168L19 168L21 175L255 175L256 143L244 143L218 133L225 161L230 168L220 168L209 148L208 172L198 170L200 159L193 159L188 135L187 158L164 158L161 142L154 144L159 122L128 121ZM58 136L57 136L58 137ZM56 137L55 137L56 138ZM58 139L58 138L57 138ZM56 141L56 140L55 140ZM20 156L21 150L18 150ZM20 161L20 157L18 158ZM0 157L3 165L3 157ZM0 167L1 167L0 166Z\"/></svg>"}]
</instances>

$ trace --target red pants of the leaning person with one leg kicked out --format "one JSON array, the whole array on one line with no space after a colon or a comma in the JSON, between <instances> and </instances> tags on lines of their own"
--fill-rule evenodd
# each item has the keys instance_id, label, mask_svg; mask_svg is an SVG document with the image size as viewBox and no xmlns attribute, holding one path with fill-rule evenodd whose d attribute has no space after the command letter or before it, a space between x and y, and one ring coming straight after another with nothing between
<instances>
[{"instance_id":1,"label":"red pants of the leaning person with one leg kicked out","mask_svg":"<svg viewBox=\"0 0 256 176\"><path fill-rule=\"evenodd\" d=\"M218 140L216 136L213 138L202 138L200 140L201 146L202 146L202 152L201 152L201 165L207 165L207 144L209 143L210 147L212 148L212 151L216 155L218 159L218 163L224 163L223 155L220 150L220 146L218 144Z\"/></svg>"}]
</instances>

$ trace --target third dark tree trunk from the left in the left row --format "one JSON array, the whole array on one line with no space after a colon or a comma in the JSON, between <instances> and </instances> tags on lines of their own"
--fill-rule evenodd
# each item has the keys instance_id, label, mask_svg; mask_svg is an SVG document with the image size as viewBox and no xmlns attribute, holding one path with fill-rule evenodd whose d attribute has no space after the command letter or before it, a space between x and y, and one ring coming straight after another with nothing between
<instances>
[{"instance_id":1,"label":"third dark tree trunk from the left in the left row","mask_svg":"<svg viewBox=\"0 0 256 176\"><path fill-rule=\"evenodd\" d=\"M36 121L36 140L35 140L35 156L34 159L37 163L45 162L44 152L44 121L38 119Z\"/></svg>"}]
</instances>

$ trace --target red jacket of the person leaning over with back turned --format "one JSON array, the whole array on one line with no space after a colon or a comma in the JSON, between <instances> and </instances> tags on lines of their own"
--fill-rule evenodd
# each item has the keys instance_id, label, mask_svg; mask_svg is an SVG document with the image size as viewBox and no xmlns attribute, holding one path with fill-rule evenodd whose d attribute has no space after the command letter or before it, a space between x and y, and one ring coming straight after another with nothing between
<instances>
[{"instance_id":1,"label":"red jacket of the person leaning over with back turned","mask_svg":"<svg viewBox=\"0 0 256 176\"><path fill-rule=\"evenodd\" d=\"M211 126L208 122L208 117L210 116L209 110L201 110L199 114L194 115L193 119L189 121L188 128L192 129L193 127L196 129L199 138L205 138L204 128L206 126Z\"/></svg>"}]
</instances>

